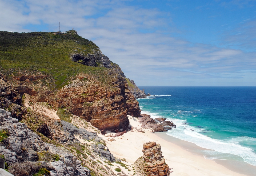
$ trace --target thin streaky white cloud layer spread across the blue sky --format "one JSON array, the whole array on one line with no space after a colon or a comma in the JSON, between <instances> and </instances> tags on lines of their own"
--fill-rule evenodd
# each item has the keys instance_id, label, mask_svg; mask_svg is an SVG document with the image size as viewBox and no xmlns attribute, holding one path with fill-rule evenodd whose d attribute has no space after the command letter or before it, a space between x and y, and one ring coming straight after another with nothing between
<instances>
[{"instance_id":1,"label":"thin streaky white cloud layer spread across the blue sky","mask_svg":"<svg viewBox=\"0 0 256 176\"><path fill-rule=\"evenodd\" d=\"M256 85L254 52L172 37L179 31L158 9L122 1L0 0L0 15L6 31L27 32L30 24L57 31L59 21L63 30L74 27L138 85ZM239 40L232 37L227 40Z\"/></svg>"}]
</instances>

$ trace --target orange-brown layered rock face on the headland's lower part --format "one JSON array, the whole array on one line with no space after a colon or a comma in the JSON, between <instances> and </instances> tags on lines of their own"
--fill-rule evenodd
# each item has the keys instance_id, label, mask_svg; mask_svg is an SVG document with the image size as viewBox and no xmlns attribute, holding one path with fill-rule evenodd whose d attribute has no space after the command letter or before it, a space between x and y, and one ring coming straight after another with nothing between
<instances>
[{"instance_id":1,"label":"orange-brown layered rock face on the headland's lower part","mask_svg":"<svg viewBox=\"0 0 256 176\"><path fill-rule=\"evenodd\" d=\"M77 76L71 86L67 85L57 93L49 90L35 91L26 84L19 86L18 90L20 93L35 96L38 102L48 102L55 109L67 108L70 113L85 119L99 130L128 129L127 114L138 117L141 110L138 101L128 89L125 77L113 79L114 86L111 89L94 77L86 77L88 80L83 81L83 76ZM24 79L16 78L18 81Z\"/></svg>"}]
</instances>

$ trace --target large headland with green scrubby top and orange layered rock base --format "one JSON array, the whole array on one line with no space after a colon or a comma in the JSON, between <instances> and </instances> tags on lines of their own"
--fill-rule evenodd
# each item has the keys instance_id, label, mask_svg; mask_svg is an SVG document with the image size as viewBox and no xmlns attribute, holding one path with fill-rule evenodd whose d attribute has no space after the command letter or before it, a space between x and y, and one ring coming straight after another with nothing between
<instances>
[{"instance_id":1,"label":"large headland with green scrubby top and orange layered rock base","mask_svg":"<svg viewBox=\"0 0 256 176\"><path fill-rule=\"evenodd\" d=\"M3 97L12 96L12 102L21 106L21 113L13 117L21 119L24 114L25 93L100 130L123 131L129 125L127 114L139 116L138 101L121 68L76 32L1 31L0 44L0 71L13 88Z\"/></svg>"}]
</instances>

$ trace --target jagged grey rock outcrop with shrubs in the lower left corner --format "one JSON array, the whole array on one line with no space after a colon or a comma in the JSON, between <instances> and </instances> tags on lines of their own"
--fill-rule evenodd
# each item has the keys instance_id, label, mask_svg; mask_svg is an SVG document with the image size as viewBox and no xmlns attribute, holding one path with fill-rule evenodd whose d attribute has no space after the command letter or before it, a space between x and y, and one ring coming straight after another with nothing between
<instances>
[{"instance_id":1,"label":"jagged grey rock outcrop with shrubs in the lower left corner","mask_svg":"<svg viewBox=\"0 0 256 176\"><path fill-rule=\"evenodd\" d=\"M0 155L10 166L10 173L32 175L46 168L51 176L90 175L90 170L79 165L81 162L73 154L43 142L37 134L27 129L27 125L10 115L10 112L0 109Z\"/></svg>"}]
</instances>

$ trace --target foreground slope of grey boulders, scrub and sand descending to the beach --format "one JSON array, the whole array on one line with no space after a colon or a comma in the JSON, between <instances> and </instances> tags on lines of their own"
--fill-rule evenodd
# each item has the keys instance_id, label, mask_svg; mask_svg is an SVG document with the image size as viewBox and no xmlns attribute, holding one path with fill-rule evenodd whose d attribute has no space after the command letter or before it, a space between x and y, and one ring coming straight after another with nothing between
<instances>
[{"instance_id":1,"label":"foreground slope of grey boulders, scrub and sand descending to the beach","mask_svg":"<svg viewBox=\"0 0 256 176\"><path fill-rule=\"evenodd\" d=\"M45 114L47 109L37 113L35 109L38 105L38 109L44 104L49 110L51 108L47 103L37 102L37 97L26 93L22 98L15 98L19 94L15 90L17 87L9 85L4 80L1 83L2 95L6 97L0 97L1 101L5 101L5 104L0 105L4 108L0 108L0 157L5 158L10 173L15 176L32 176L40 169L44 169L49 171L51 176L114 174L112 169L106 168L101 162L96 162L106 159L109 159L109 162L115 161L108 150L101 151L100 148L103 147L98 144L106 144L97 136L99 130L88 126L82 119L77 121L93 129L93 132L77 128L63 120L49 118ZM15 99L21 99L21 105L13 103ZM24 106L27 101L28 108ZM21 121L11 117L12 114L18 116ZM91 145L99 147L91 148Z\"/></svg>"}]
</instances>

